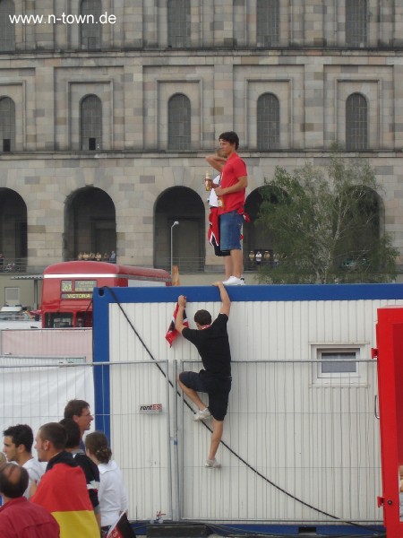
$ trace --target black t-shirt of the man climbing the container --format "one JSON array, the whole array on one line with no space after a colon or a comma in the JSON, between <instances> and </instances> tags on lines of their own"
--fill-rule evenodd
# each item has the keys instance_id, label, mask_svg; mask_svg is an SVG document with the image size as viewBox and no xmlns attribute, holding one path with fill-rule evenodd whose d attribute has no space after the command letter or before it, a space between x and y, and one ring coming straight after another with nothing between
<instances>
[{"instance_id":1,"label":"black t-shirt of the man climbing the container","mask_svg":"<svg viewBox=\"0 0 403 538\"><path fill-rule=\"evenodd\" d=\"M231 352L227 334L227 314L219 314L210 327L206 329L184 328L182 334L192 342L203 367L212 376L229 377L231 375Z\"/></svg>"}]
</instances>

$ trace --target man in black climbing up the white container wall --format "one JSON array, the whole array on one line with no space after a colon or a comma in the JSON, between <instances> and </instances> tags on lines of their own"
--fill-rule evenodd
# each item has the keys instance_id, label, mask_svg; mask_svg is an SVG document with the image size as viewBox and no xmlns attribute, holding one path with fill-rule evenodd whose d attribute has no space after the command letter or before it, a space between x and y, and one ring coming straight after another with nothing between
<instances>
[{"instance_id":1,"label":"man in black climbing up the white container wall","mask_svg":"<svg viewBox=\"0 0 403 538\"><path fill-rule=\"evenodd\" d=\"M198 407L194 421L203 421L212 417L213 431L211 435L209 457L206 467L220 467L216 453L224 430L224 418L227 414L228 396L231 390L231 351L227 334L227 321L231 301L222 282L214 282L219 288L222 306L219 316L211 323L211 315L207 310L198 310L194 315L197 329L189 329L184 325L184 308L186 298L180 295L177 299L179 308L176 315L176 330L186 340L192 342L201 356L204 369L199 373L182 372L177 381L179 386ZM209 407L206 407L198 392L209 395Z\"/></svg>"}]
</instances>

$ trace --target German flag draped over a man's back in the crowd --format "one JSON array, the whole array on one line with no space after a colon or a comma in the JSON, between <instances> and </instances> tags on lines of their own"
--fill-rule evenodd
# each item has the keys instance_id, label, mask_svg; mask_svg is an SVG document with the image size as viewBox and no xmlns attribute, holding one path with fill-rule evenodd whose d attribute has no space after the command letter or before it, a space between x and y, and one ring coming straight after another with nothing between
<instances>
[{"instance_id":1,"label":"German flag draped over a man's back in the crowd","mask_svg":"<svg viewBox=\"0 0 403 538\"><path fill-rule=\"evenodd\" d=\"M55 517L60 525L60 538L99 538L99 526L81 467L67 452L61 452L49 464L30 500L47 508Z\"/></svg>"}]
</instances>

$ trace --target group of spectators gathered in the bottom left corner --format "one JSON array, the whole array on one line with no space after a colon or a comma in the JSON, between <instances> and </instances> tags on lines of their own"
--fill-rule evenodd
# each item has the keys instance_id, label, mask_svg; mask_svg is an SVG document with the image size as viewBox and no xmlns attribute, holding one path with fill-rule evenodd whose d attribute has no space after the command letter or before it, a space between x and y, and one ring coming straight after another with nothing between
<instances>
[{"instance_id":1,"label":"group of spectators gathered in the bottom left corner","mask_svg":"<svg viewBox=\"0 0 403 538\"><path fill-rule=\"evenodd\" d=\"M74 399L64 419L40 426L35 439L28 424L4 430L2 538L99 538L127 515L122 473L107 437L94 431L83 438L93 420L90 404Z\"/></svg>"}]
</instances>

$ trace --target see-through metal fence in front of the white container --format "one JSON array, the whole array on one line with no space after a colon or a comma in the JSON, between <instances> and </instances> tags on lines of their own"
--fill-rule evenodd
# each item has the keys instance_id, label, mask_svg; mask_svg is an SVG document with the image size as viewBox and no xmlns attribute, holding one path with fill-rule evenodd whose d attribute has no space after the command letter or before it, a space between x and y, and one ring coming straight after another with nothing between
<instances>
[{"instance_id":1,"label":"see-through metal fence in front of the white container","mask_svg":"<svg viewBox=\"0 0 403 538\"><path fill-rule=\"evenodd\" d=\"M376 362L359 361L364 383L336 376L326 385L317 362L233 363L220 470L204 467L210 423L193 422L176 386L176 370L197 370L195 361L1 358L1 427L36 429L60 420L70 398L89 401L110 433L136 520L161 512L187 521L379 524Z\"/></svg>"}]
</instances>

